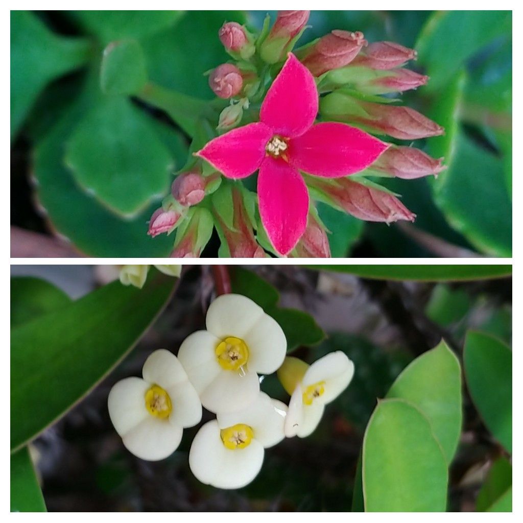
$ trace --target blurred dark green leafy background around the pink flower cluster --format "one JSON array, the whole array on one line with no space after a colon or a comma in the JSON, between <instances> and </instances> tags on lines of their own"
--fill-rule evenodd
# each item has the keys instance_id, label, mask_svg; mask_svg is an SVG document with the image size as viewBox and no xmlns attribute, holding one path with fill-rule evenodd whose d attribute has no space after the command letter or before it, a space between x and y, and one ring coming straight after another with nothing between
<instances>
[{"instance_id":1,"label":"blurred dark green leafy background around the pink flower cluster","mask_svg":"<svg viewBox=\"0 0 523 523\"><path fill-rule=\"evenodd\" d=\"M148 78L211 99L203 73L228 60L218 29L225 20L259 29L265 15L12 12L14 255L61 256L66 238L65 255L167 256L173 238L146 236L146 221L185 163L189 137L166 112L110 93ZM314 11L309 24L299 45L346 29L414 47L412 68L431 79L404 103L446 128L415 144L445 156L438 179L388 181L417 214L414 225L363 223L320 207L333 256L510 256L511 12ZM122 67L122 85L104 93L103 50L121 40L130 41L129 71ZM213 236L203 256L218 247Z\"/></svg>"}]
</instances>

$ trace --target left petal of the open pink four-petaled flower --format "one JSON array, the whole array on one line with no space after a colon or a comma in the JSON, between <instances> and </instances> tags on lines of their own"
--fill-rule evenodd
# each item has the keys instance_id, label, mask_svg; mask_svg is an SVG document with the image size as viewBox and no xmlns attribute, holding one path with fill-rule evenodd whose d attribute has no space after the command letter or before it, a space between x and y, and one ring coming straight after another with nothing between
<instances>
[{"instance_id":1,"label":"left petal of the open pink four-petaled flower","mask_svg":"<svg viewBox=\"0 0 523 523\"><path fill-rule=\"evenodd\" d=\"M228 178L253 174L265 158L265 145L272 130L264 123L249 123L214 138L195 153Z\"/></svg>"}]
</instances>

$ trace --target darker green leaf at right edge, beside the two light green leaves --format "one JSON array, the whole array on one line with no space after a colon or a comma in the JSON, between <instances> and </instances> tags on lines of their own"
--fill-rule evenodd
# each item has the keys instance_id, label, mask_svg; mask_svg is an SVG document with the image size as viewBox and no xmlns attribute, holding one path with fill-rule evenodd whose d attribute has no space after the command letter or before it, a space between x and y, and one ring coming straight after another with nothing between
<instances>
[{"instance_id":1,"label":"darker green leaf at right edge, beside the two light green leaves","mask_svg":"<svg viewBox=\"0 0 523 523\"><path fill-rule=\"evenodd\" d=\"M465 379L488 430L512 452L512 351L497 338L469 331L463 351Z\"/></svg>"}]
</instances>

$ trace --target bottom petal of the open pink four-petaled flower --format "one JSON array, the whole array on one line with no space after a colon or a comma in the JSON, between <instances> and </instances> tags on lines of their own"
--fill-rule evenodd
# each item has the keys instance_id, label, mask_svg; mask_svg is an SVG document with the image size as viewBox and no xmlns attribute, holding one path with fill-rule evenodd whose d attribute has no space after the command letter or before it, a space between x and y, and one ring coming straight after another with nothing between
<instances>
[{"instance_id":1,"label":"bottom petal of the open pink four-petaled flower","mask_svg":"<svg viewBox=\"0 0 523 523\"><path fill-rule=\"evenodd\" d=\"M307 225L309 193L300 173L283 160L267 156L258 175L261 222L276 251L285 256Z\"/></svg>"}]
</instances>

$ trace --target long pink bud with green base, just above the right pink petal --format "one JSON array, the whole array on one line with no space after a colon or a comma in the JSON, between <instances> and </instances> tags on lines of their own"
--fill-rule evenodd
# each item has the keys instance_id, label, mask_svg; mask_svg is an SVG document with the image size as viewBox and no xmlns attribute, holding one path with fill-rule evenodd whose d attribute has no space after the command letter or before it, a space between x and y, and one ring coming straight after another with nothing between
<instances>
[{"instance_id":1,"label":"long pink bud with green base, just above the right pink petal","mask_svg":"<svg viewBox=\"0 0 523 523\"><path fill-rule=\"evenodd\" d=\"M323 98L320 108L329 119L360 124L371 132L400 140L428 138L445 132L436 122L410 107L367 102L339 91Z\"/></svg>"}]
</instances>

